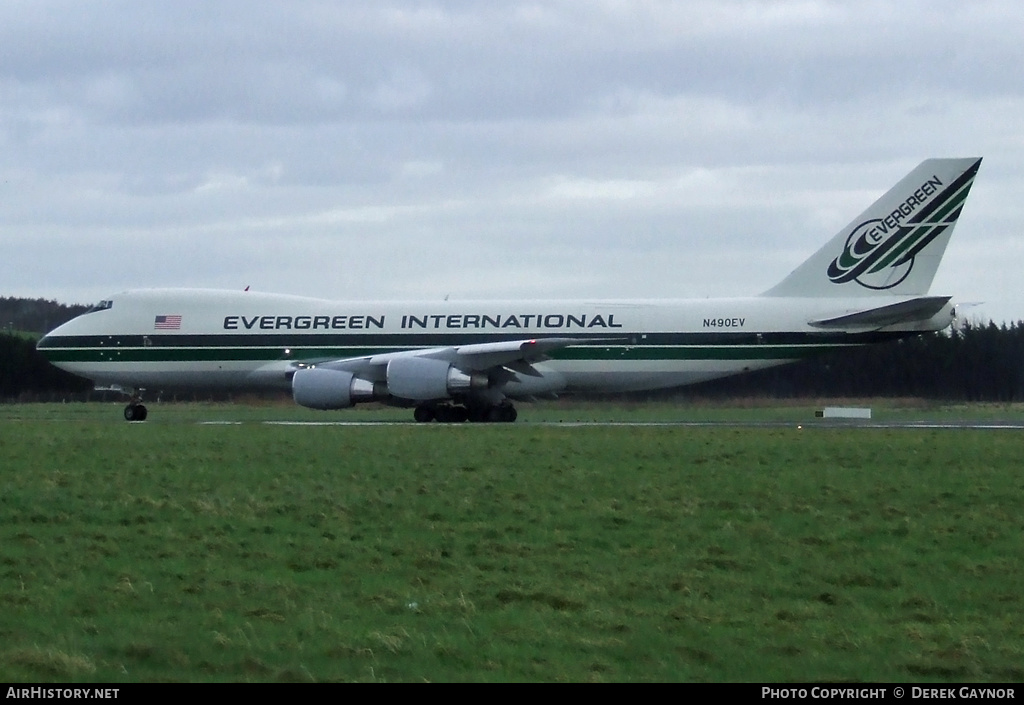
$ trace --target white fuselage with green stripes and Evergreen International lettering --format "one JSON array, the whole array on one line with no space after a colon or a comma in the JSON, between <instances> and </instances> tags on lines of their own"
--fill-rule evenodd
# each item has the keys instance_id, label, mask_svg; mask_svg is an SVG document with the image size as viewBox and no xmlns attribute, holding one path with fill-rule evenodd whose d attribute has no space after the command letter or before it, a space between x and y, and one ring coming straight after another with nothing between
<instances>
[{"instance_id":1,"label":"white fuselage with green stripes and Evergreen International lettering","mask_svg":"<svg viewBox=\"0 0 1024 705\"><path fill-rule=\"evenodd\" d=\"M874 299L872 305L900 297ZM673 387L950 322L823 331L811 321L862 298L578 301L330 301L255 292L130 291L40 342L58 367L124 387L289 384L297 363L523 338L573 338L536 364L552 390ZM529 381L529 380L525 380Z\"/></svg>"}]
</instances>

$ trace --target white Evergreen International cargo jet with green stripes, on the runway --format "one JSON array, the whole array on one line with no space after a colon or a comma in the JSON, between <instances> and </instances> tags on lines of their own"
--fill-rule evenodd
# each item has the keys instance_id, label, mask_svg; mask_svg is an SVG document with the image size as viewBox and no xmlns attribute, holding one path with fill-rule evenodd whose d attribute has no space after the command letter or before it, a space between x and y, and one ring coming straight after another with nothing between
<instances>
[{"instance_id":1,"label":"white Evergreen International cargo jet with green stripes, on the runway","mask_svg":"<svg viewBox=\"0 0 1024 705\"><path fill-rule=\"evenodd\" d=\"M145 420L144 389L281 387L313 409L382 402L421 422L510 422L516 401L679 387L946 328L951 297L928 292L980 165L923 162L759 296L425 302L135 290L38 348L130 393L128 421Z\"/></svg>"}]
</instances>

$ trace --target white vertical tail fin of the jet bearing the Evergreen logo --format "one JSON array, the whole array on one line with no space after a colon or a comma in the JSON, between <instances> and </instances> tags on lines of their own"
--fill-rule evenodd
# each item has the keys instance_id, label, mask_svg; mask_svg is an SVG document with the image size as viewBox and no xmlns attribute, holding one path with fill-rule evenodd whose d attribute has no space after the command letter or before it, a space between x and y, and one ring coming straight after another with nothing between
<instances>
[{"instance_id":1,"label":"white vertical tail fin of the jet bearing the Evergreen logo","mask_svg":"<svg viewBox=\"0 0 1024 705\"><path fill-rule=\"evenodd\" d=\"M764 296L928 293L981 159L929 159Z\"/></svg>"}]
</instances>

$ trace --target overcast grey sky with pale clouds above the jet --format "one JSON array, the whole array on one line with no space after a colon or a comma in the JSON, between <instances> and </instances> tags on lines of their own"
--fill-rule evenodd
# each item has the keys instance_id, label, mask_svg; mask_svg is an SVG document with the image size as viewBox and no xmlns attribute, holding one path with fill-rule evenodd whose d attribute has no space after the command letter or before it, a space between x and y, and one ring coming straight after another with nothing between
<instances>
[{"instance_id":1,"label":"overcast grey sky with pale clouds above the jet","mask_svg":"<svg viewBox=\"0 0 1024 705\"><path fill-rule=\"evenodd\" d=\"M1015 0L5 0L0 295L753 295L978 156L932 291L1024 319L1022 38Z\"/></svg>"}]
</instances>

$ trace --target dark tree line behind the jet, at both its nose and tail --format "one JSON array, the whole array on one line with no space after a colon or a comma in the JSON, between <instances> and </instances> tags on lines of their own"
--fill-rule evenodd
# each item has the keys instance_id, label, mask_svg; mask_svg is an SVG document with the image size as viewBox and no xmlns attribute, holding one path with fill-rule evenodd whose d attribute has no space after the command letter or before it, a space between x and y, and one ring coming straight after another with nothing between
<instances>
[{"instance_id":1,"label":"dark tree line behind the jet, at both its nose and tail","mask_svg":"<svg viewBox=\"0 0 1024 705\"><path fill-rule=\"evenodd\" d=\"M38 337L88 309L44 299L0 298L0 400L88 399L91 384L50 365ZM913 397L1024 401L1024 323L966 323L881 345L713 380L687 393L716 399Z\"/></svg>"}]
</instances>

